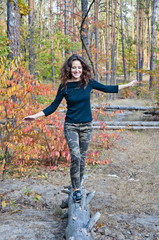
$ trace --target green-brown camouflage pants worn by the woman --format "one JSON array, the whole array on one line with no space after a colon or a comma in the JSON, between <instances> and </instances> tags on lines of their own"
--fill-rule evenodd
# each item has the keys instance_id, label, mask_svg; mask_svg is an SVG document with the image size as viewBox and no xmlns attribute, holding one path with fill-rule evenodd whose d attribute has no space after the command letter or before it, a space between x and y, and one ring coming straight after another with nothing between
<instances>
[{"instance_id":1,"label":"green-brown camouflage pants worn by the woman","mask_svg":"<svg viewBox=\"0 0 159 240\"><path fill-rule=\"evenodd\" d=\"M72 187L80 188L85 170L85 158L92 139L92 122L64 124L64 134L70 150L71 166L70 177Z\"/></svg>"}]
</instances>

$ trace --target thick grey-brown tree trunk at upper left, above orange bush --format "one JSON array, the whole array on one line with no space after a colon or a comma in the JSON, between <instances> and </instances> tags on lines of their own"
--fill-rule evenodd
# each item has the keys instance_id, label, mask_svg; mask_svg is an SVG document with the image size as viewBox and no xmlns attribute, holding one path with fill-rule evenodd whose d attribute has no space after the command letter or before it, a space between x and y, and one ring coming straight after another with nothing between
<instances>
[{"instance_id":1,"label":"thick grey-brown tree trunk at upper left, above orange bush","mask_svg":"<svg viewBox=\"0 0 159 240\"><path fill-rule=\"evenodd\" d=\"M20 55L20 8L18 0L7 0L7 37L10 40L9 58Z\"/></svg>"}]
</instances>

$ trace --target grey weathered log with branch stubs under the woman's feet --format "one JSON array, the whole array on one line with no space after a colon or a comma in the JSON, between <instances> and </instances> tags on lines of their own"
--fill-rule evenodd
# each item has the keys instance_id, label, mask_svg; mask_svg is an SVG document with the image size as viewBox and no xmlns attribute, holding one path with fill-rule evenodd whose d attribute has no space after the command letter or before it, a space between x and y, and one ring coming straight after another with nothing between
<instances>
[{"instance_id":1,"label":"grey weathered log with branch stubs under the woman's feet","mask_svg":"<svg viewBox=\"0 0 159 240\"><path fill-rule=\"evenodd\" d=\"M89 203L95 192L86 194L84 187L81 187L82 199L80 203L75 203L72 194L73 189L68 194L68 201L64 201L61 207L68 206L68 225L65 231L66 240L93 240L94 237L91 230L94 224L100 218L100 213L97 212L93 217L90 217Z\"/></svg>"}]
</instances>

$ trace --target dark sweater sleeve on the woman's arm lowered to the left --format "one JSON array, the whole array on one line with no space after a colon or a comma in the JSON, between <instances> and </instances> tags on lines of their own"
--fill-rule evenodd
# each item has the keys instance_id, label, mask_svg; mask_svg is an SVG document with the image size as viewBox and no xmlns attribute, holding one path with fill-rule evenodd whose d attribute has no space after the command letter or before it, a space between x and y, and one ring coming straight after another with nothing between
<instances>
[{"instance_id":1,"label":"dark sweater sleeve on the woman's arm lowered to the left","mask_svg":"<svg viewBox=\"0 0 159 240\"><path fill-rule=\"evenodd\" d=\"M53 112L56 111L56 109L60 105L63 97L64 97L64 92L63 92L62 86L60 84L55 100L47 108L45 108L43 110L45 116L48 116L48 115L50 115L50 114L52 114Z\"/></svg>"}]
</instances>

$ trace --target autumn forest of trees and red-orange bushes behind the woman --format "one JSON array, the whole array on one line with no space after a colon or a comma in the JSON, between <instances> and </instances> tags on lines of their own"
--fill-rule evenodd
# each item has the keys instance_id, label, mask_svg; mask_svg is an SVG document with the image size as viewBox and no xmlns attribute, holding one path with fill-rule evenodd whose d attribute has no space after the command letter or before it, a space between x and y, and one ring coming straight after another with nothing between
<instances>
[{"instance_id":1,"label":"autumn forest of trees and red-orange bushes behind the woman","mask_svg":"<svg viewBox=\"0 0 159 240\"><path fill-rule=\"evenodd\" d=\"M60 109L47 119L25 125L23 117L45 108L56 95L59 72L72 53L90 61L105 84L139 81L138 97L159 103L159 0L74 1L2 0L0 3L0 162L1 172L45 163L55 170L70 156ZM146 82L143 74L147 75ZM146 86L146 87L144 87ZM126 96L134 96L126 92ZM62 102L63 105L65 102ZM63 108L63 106L62 106ZM100 109L94 114L105 115ZM53 128L48 128L53 125ZM94 135L87 163L99 161L114 133ZM98 139L98 140L97 140ZM96 140L96 141L95 141Z\"/></svg>"}]
</instances>

